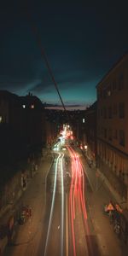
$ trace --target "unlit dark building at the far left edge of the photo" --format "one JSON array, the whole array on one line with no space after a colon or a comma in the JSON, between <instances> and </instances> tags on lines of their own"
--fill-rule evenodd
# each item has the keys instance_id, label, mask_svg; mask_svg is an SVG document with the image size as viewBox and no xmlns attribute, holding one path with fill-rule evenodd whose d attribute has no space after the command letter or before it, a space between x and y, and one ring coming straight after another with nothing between
<instances>
[{"instance_id":1,"label":"unlit dark building at the far left edge of the photo","mask_svg":"<svg viewBox=\"0 0 128 256\"><path fill-rule=\"evenodd\" d=\"M26 159L26 145L20 139L17 124L20 119L19 97L0 90L0 189Z\"/></svg>"}]
</instances>

